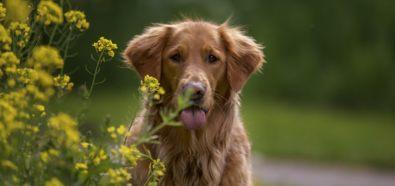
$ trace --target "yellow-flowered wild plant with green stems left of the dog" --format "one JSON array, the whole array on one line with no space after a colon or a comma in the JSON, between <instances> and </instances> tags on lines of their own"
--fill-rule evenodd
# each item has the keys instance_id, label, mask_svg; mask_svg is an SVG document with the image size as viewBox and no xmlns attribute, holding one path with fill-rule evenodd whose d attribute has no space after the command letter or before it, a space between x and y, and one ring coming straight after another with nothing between
<instances>
[{"instance_id":1,"label":"yellow-flowered wild plant with green stems left of the dog","mask_svg":"<svg viewBox=\"0 0 395 186\"><path fill-rule=\"evenodd\" d=\"M175 110L154 110L165 91L155 77L146 75L129 122L110 126L111 117L106 116L101 138L93 139L90 131L82 135L78 127L89 110L93 86L105 80L96 82L99 65L115 56L117 46L104 37L93 43L97 57L91 56L96 68L92 72L86 68L93 75L90 89L84 86L84 100L78 110L62 113L62 102L74 86L71 73L63 70L73 56L68 53L70 42L75 42L78 32L89 29L90 23L84 12L71 10L71 5L63 14L65 0L60 4L41 0L37 7L17 1L9 3L14 6L11 10L0 3L0 185L131 186L125 183L132 179L128 170L139 160L149 159L149 179L143 185L156 186L165 176L164 163L137 147L159 143L155 133L164 126L180 126L174 119L190 106L191 93L178 97ZM7 19L8 14L23 16L15 21ZM7 20L12 22L5 24ZM49 109L51 102L57 107ZM138 116L142 105L147 105L147 112ZM153 126L150 117L157 112L163 122ZM136 118L142 117L147 122L139 137L129 136ZM107 135L116 146L104 143ZM130 141L135 143L128 144Z\"/></svg>"}]
</instances>

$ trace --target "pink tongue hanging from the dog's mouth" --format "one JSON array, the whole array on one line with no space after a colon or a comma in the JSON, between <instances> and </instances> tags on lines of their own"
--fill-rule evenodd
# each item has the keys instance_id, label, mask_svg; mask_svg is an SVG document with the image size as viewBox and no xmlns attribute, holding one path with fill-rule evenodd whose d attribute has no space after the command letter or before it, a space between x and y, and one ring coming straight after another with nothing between
<instances>
[{"instance_id":1,"label":"pink tongue hanging from the dog's mouth","mask_svg":"<svg viewBox=\"0 0 395 186\"><path fill-rule=\"evenodd\" d=\"M184 128L188 130L199 130L206 121L205 113L197 108L189 108L181 113Z\"/></svg>"}]
</instances>

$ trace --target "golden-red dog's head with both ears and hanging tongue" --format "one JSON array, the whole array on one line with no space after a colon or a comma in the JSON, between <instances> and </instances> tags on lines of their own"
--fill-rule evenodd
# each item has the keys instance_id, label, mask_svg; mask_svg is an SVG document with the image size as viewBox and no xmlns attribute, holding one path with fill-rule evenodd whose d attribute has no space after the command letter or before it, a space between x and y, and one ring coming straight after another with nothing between
<instances>
[{"instance_id":1,"label":"golden-red dog's head with both ears and hanging tongue","mask_svg":"<svg viewBox=\"0 0 395 186\"><path fill-rule=\"evenodd\" d=\"M208 22L156 24L135 36L124 51L139 73L156 77L167 96L163 104L176 107L177 94L192 89L193 105L181 113L188 130L200 129L212 109L238 93L264 61L262 46L238 27Z\"/></svg>"}]
</instances>

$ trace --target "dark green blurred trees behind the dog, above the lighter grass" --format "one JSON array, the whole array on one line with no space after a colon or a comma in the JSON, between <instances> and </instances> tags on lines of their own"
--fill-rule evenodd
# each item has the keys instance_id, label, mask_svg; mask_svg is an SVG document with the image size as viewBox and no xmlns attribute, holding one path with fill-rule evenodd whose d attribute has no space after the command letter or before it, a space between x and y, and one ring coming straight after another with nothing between
<instances>
[{"instance_id":1,"label":"dark green blurred trees behind the dog, above the lighter grass","mask_svg":"<svg viewBox=\"0 0 395 186\"><path fill-rule=\"evenodd\" d=\"M395 1L71 1L91 23L81 45L71 49L87 53L65 65L66 71L80 66L71 75L76 83L90 78L84 66L94 65L89 53L98 37L113 38L122 50L144 27L175 20L180 13L217 23L233 15L234 24L245 25L266 46L264 74L254 75L244 94L395 112ZM124 67L123 59L119 54L116 58L103 64L107 70L99 78L106 77L106 83L118 89L125 82L130 82L125 90L137 86L136 73L119 68Z\"/></svg>"}]
</instances>

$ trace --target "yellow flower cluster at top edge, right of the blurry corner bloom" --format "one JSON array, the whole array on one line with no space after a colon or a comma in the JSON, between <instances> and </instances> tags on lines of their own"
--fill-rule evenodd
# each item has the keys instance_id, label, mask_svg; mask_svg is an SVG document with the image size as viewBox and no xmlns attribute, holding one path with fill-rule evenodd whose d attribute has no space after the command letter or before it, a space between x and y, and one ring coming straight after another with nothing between
<instances>
[{"instance_id":1,"label":"yellow flower cluster at top edge, right of the blurry corner bloom","mask_svg":"<svg viewBox=\"0 0 395 186\"><path fill-rule=\"evenodd\" d=\"M63 10L59 4L52 0L41 0L37 5L37 13L36 19L44 22L46 25L50 23L63 23Z\"/></svg>"}]
</instances>

